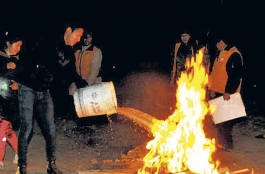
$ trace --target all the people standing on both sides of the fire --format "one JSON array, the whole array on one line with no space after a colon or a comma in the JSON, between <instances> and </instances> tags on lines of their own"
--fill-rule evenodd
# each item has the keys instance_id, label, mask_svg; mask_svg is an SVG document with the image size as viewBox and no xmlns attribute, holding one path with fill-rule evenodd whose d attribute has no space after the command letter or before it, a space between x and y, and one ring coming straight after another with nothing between
<instances>
[{"instance_id":1,"label":"all the people standing on both sides of the fire","mask_svg":"<svg viewBox=\"0 0 265 174\"><path fill-rule=\"evenodd\" d=\"M27 44L26 39L9 36L6 33L4 47L0 52L3 62L2 76L9 80L8 85L18 99L20 130L17 140L10 122L0 120L0 141L13 142L11 144L14 144L12 147L17 154L15 156L17 160L14 160L18 163L17 174L27 172L26 154L32 136L33 112L46 140L47 173L63 173L55 165L54 104L50 89L58 75L64 76L61 77L62 79L67 79L64 87L68 89L70 95L73 95L78 88L102 82L100 76L102 53L100 48L93 45L92 38L92 32L84 28L68 27L59 39L47 35L41 36L32 47L27 47L30 44ZM181 71L185 70L186 58L195 56L198 51L199 46L191 44L190 38L191 34L183 31L181 42L175 44L171 61L171 85L176 83ZM216 40L217 54L210 72L209 48L207 44L203 46L206 47L204 63L210 73L208 99L223 95L224 100L229 100L230 94L240 92L242 55L236 47L228 45L224 38L219 38ZM61 73L62 71L65 73ZM59 91L60 88L61 86L58 86L56 90ZM222 136L224 141L220 140L220 143L225 148L232 148L231 124L221 125L224 126L226 126L225 135ZM1 143L0 148L5 148L5 144ZM2 154L4 151L1 152L1 156L4 156ZM3 158L0 160L2 160L0 167L3 167Z\"/></svg>"}]
</instances>

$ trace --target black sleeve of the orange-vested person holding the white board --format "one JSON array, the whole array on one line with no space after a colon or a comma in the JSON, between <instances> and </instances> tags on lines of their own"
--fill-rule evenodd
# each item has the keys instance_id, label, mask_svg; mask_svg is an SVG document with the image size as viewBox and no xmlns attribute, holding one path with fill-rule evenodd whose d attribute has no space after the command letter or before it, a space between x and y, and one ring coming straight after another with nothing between
<instances>
[{"instance_id":1,"label":"black sleeve of the orange-vested person holding the white board","mask_svg":"<svg viewBox=\"0 0 265 174\"><path fill-rule=\"evenodd\" d=\"M229 94L234 94L240 85L242 78L242 58L239 53L233 53L227 63L226 72L228 79L225 86L225 92Z\"/></svg>"}]
</instances>

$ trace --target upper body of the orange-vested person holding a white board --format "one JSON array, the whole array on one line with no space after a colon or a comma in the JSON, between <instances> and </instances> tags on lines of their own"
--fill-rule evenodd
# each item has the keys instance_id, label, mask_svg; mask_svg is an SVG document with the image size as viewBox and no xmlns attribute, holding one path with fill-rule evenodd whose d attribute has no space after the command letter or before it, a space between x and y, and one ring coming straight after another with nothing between
<instances>
[{"instance_id":1,"label":"upper body of the orange-vested person holding a white board","mask_svg":"<svg viewBox=\"0 0 265 174\"><path fill-rule=\"evenodd\" d=\"M210 73L209 90L211 98L223 95L224 100L230 99L230 94L240 92L242 83L243 58L236 47L231 47L220 40L216 44L218 56L214 60Z\"/></svg>"}]
</instances>

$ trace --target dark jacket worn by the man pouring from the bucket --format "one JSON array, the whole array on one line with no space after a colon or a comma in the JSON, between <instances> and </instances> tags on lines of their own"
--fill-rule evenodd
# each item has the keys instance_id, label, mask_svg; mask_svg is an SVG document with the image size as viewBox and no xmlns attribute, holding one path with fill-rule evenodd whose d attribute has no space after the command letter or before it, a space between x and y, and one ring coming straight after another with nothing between
<instances>
[{"instance_id":1,"label":"dark jacket worn by the man pouring from the bucket","mask_svg":"<svg viewBox=\"0 0 265 174\"><path fill-rule=\"evenodd\" d=\"M59 63L61 57L58 56L55 48L56 41L54 38L42 37L33 48L26 48L24 52L20 53L19 63L22 68L17 74L17 81L36 91L50 89L54 75L62 71L62 66ZM64 48L64 51L67 52L66 54L69 57L73 56L72 59L74 59L74 54L71 55L71 48L67 46ZM68 77L68 85L72 82L82 81L74 70L75 66L72 66L69 66L70 68L68 69L69 74L72 74ZM84 83L79 82L79 84Z\"/></svg>"}]
</instances>

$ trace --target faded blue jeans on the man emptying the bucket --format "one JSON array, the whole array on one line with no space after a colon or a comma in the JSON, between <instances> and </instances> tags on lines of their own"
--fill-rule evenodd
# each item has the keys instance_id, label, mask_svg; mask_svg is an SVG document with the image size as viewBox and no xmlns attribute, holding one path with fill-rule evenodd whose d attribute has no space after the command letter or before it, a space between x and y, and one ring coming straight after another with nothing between
<instances>
[{"instance_id":1,"label":"faded blue jeans on the man emptying the bucket","mask_svg":"<svg viewBox=\"0 0 265 174\"><path fill-rule=\"evenodd\" d=\"M33 110L34 114L36 113L36 119L41 128L42 135L46 140L47 161L55 160L55 123L50 91L35 91L20 84L18 100L21 119L18 135L18 165L27 164L26 154L32 135Z\"/></svg>"}]
</instances>

